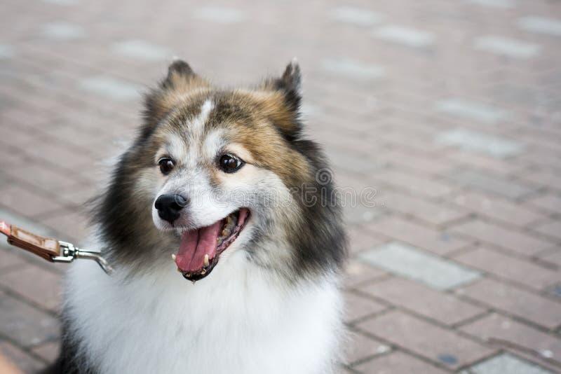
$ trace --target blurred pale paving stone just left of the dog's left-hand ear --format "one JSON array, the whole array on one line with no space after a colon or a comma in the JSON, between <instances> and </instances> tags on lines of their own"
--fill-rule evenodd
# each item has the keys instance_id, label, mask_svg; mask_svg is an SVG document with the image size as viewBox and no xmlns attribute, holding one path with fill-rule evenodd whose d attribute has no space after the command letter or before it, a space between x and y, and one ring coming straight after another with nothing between
<instances>
[{"instance_id":1,"label":"blurred pale paving stone just left of the dog's left-hand ear","mask_svg":"<svg viewBox=\"0 0 561 374\"><path fill-rule=\"evenodd\" d=\"M110 76L83 78L79 81L79 87L102 97L109 97L117 102L138 99L140 98L140 92L144 89L141 85L128 83Z\"/></svg>"}]
</instances>

